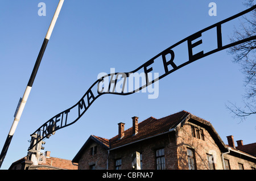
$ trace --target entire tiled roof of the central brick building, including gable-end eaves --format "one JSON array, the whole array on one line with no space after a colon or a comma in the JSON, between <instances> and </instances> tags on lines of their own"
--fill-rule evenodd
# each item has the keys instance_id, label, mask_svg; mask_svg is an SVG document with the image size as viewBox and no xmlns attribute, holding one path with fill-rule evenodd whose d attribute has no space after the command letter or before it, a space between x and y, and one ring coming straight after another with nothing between
<instances>
[{"instance_id":1,"label":"entire tiled roof of the central brick building, including gable-end eaves","mask_svg":"<svg viewBox=\"0 0 256 181\"><path fill-rule=\"evenodd\" d=\"M148 119L138 123L138 133L133 135L133 127L124 131L125 136L119 139L118 135L110 138L109 140L106 138L98 137L91 135L76 156L73 158L73 162L79 162L79 159L83 153L83 150L86 148L90 140L94 140L99 144L102 144L106 149L115 149L119 146L124 146L127 144L133 144L134 142L144 140L146 138L150 138L152 136L157 136L162 133L170 132L170 129L176 128L177 125L181 123L181 121L185 120L187 116L190 116L189 119L194 121L199 121L204 124L207 129L214 135L216 138L218 145L226 151L226 146L221 138L218 136L215 129L212 127L209 121L201 119L200 117L194 116L187 111L180 111L174 113L170 116L163 117L161 119L156 119L154 117L148 117Z\"/></svg>"}]
</instances>

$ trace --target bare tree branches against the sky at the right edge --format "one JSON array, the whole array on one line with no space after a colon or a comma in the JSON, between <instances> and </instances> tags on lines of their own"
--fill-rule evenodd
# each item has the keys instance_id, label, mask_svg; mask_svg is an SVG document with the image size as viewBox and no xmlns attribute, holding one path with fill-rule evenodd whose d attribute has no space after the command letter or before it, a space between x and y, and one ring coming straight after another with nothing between
<instances>
[{"instance_id":1,"label":"bare tree branches against the sky at the right edge","mask_svg":"<svg viewBox=\"0 0 256 181\"><path fill-rule=\"evenodd\" d=\"M246 0L245 6L253 6L254 0ZM250 15L250 16L249 16ZM251 11L247 16L243 16L240 28L234 28L233 36L230 41L238 41L256 35L256 10ZM247 41L245 43L231 47L228 53L234 57L233 62L240 64L242 73L245 75L245 95L243 98L244 108L237 107L229 102L230 106L226 107L233 113L235 117L245 120L246 117L256 114L256 40Z\"/></svg>"}]
</instances>

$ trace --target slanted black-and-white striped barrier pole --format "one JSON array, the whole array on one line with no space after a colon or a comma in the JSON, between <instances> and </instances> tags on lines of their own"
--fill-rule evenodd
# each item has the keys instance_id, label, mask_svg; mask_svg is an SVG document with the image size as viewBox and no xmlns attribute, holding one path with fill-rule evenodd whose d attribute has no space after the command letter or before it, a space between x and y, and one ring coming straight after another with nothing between
<instances>
[{"instance_id":1,"label":"slanted black-and-white striped barrier pole","mask_svg":"<svg viewBox=\"0 0 256 181\"><path fill-rule=\"evenodd\" d=\"M64 0L59 1L59 4L58 4L57 9L55 11L55 14L53 15L53 18L52 18L52 22L51 22L51 24L48 28L46 37L44 38L43 45L42 45L42 47L40 49L40 52L38 54L38 58L36 59L34 69L32 70L32 74L30 76L30 80L28 81L26 90L23 94L23 98L21 99L19 107L17 108L17 111L15 113L15 118L14 118L14 121L13 121L13 125L11 126L10 132L9 132L7 138L6 138L5 145L3 145L3 149L2 149L2 152L1 152L1 155L0 155L0 167L2 166L3 159L5 159L7 150L9 148L10 143L11 143L11 139L13 138L14 132L15 132L16 127L17 127L17 125L19 123L19 120L20 120L20 116L22 115L22 112L24 110L25 104L27 102L28 95L30 94L32 85L33 85L35 77L36 77L36 73L38 72L40 62L43 58L44 50L46 50L47 43L49 41L49 38L51 37L53 28L54 28L56 20L59 16L61 7L63 5L63 2L64 2Z\"/></svg>"}]
</instances>

